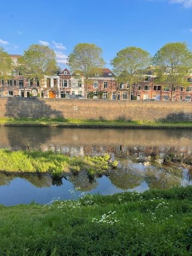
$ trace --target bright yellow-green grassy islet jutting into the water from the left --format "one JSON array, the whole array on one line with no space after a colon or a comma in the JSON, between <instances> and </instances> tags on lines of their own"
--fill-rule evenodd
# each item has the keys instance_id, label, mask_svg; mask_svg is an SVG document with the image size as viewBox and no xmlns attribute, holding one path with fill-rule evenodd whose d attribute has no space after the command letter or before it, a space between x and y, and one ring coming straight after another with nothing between
<instances>
[{"instance_id":1,"label":"bright yellow-green grassy islet jutting into the water from the left","mask_svg":"<svg viewBox=\"0 0 192 256\"><path fill-rule=\"evenodd\" d=\"M110 156L69 157L53 151L0 149L0 171L8 173L49 173L60 178L66 173L78 174L86 171L90 178L102 175L117 162L109 161Z\"/></svg>"}]
</instances>

